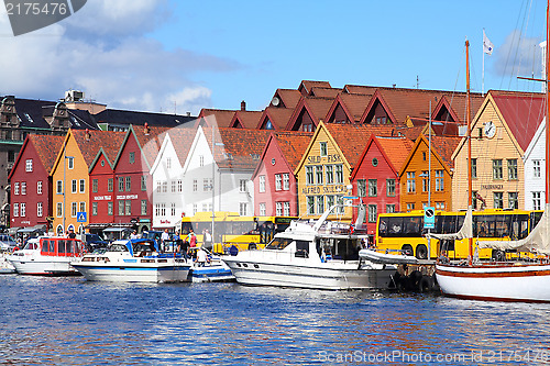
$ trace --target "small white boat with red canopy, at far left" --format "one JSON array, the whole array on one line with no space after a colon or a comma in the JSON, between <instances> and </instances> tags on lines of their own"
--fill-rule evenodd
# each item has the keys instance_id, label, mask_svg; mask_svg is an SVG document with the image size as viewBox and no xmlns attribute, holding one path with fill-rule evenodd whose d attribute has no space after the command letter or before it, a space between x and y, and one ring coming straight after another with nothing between
<instances>
[{"instance_id":1,"label":"small white boat with red canopy, at far left","mask_svg":"<svg viewBox=\"0 0 550 366\"><path fill-rule=\"evenodd\" d=\"M8 262L20 275L79 275L70 262L82 256L84 245L77 239L41 236L8 255Z\"/></svg>"}]
</instances>

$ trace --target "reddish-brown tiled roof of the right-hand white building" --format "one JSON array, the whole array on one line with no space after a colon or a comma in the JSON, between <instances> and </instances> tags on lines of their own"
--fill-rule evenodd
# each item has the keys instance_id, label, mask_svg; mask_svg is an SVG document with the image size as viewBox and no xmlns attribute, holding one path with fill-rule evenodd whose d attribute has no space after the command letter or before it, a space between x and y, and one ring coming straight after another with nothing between
<instances>
[{"instance_id":1,"label":"reddish-brown tiled roof of the right-hand white building","mask_svg":"<svg viewBox=\"0 0 550 366\"><path fill-rule=\"evenodd\" d=\"M265 143L271 131L249 129L216 129L215 133L215 159L220 168L224 169L255 169L260 162ZM210 127L204 129L210 151L212 134ZM221 145L220 145L221 144Z\"/></svg>"}]
</instances>

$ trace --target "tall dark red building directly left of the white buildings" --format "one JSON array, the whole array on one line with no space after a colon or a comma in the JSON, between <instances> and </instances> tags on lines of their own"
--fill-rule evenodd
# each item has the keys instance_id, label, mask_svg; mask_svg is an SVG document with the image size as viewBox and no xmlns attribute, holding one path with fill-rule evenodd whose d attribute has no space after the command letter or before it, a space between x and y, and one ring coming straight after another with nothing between
<instances>
[{"instance_id":1,"label":"tall dark red building directly left of the white buildings","mask_svg":"<svg viewBox=\"0 0 550 366\"><path fill-rule=\"evenodd\" d=\"M150 174L167 127L130 126L113 164L113 219L119 225L151 229L153 179Z\"/></svg>"}]
</instances>

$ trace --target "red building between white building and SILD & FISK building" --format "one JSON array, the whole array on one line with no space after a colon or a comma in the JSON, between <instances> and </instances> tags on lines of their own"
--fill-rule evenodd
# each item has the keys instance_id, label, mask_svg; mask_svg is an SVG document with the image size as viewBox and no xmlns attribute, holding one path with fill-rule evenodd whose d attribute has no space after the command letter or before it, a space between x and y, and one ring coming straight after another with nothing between
<instances>
[{"instance_id":1,"label":"red building between white building and SILD & FISK building","mask_svg":"<svg viewBox=\"0 0 550 366\"><path fill-rule=\"evenodd\" d=\"M298 215L294 169L306 152L312 133L273 132L252 175L255 215Z\"/></svg>"}]
</instances>

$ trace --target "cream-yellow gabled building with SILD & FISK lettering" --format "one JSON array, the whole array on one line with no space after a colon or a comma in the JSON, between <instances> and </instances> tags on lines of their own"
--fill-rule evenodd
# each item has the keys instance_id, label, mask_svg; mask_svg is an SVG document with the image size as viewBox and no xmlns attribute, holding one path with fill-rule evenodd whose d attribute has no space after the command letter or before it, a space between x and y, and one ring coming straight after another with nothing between
<instances>
[{"instance_id":1,"label":"cream-yellow gabled building with SILD & FISK lettering","mask_svg":"<svg viewBox=\"0 0 550 366\"><path fill-rule=\"evenodd\" d=\"M332 204L343 203L353 166L372 133L391 135L391 126L319 122L294 175L298 181L298 212L317 219ZM355 202L356 203L356 202ZM329 219L351 221L352 208L339 207Z\"/></svg>"}]
</instances>

